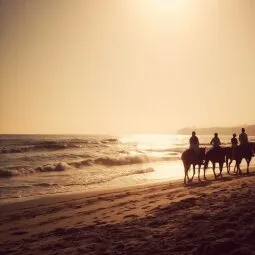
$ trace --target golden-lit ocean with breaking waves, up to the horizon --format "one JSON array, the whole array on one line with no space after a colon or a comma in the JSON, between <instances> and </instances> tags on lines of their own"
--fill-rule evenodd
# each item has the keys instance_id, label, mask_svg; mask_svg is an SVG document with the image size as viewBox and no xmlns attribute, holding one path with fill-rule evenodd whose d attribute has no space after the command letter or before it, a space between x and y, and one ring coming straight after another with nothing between
<instances>
[{"instance_id":1,"label":"golden-lit ocean with breaking waves, up to the horizon","mask_svg":"<svg viewBox=\"0 0 255 255\"><path fill-rule=\"evenodd\" d=\"M0 135L0 203L182 179L189 137ZM209 149L212 136L198 137ZM228 146L231 136L220 139Z\"/></svg>"}]
</instances>

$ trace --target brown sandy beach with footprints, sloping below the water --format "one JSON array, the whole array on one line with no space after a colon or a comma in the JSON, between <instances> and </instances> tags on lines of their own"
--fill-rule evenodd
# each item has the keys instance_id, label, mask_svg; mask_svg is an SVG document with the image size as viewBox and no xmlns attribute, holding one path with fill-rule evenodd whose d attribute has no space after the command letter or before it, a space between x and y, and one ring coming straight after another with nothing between
<instances>
[{"instance_id":1,"label":"brown sandy beach with footprints, sloping below the water","mask_svg":"<svg viewBox=\"0 0 255 255\"><path fill-rule=\"evenodd\" d=\"M255 173L0 207L0 254L255 254Z\"/></svg>"}]
</instances>

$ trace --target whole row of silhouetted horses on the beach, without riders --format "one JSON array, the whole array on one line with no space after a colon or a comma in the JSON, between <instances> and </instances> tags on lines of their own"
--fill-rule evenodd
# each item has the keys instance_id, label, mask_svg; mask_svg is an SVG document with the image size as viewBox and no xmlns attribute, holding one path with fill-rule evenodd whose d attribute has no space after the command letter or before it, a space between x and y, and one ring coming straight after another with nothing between
<instances>
[{"instance_id":1,"label":"whole row of silhouetted horses on the beach, without riders","mask_svg":"<svg viewBox=\"0 0 255 255\"><path fill-rule=\"evenodd\" d=\"M255 143L247 143L245 145L237 146L234 151L231 147L218 147L210 150L206 150L206 148L199 148L199 151L196 152L192 149L187 149L182 153L181 159L184 165L184 184L187 182L192 182L195 176L195 169L198 166L198 180L200 179L200 169L201 166L204 166L204 179L206 169L208 168L209 162L212 163L212 169L214 178L222 177L222 170L224 163L226 162L227 173L230 174L230 166L233 160L236 161L236 165L234 168L234 172L236 174L242 174L240 164L243 159L246 160L247 163L247 174L249 174L249 165L252 157L255 153ZM219 163L219 174L216 175L215 166L216 163ZM193 166L193 175L189 178L189 169ZM236 171L235 171L236 170Z\"/></svg>"}]
</instances>

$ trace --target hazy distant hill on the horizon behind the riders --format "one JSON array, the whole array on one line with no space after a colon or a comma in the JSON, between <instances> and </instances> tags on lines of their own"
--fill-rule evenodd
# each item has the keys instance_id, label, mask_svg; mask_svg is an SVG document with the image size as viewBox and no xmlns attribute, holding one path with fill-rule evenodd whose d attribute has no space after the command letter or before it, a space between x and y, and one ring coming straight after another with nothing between
<instances>
[{"instance_id":1,"label":"hazy distant hill on the horizon behind the riders","mask_svg":"<svg viewBox=\"0 0 255 255\"><path fill-rule=\"evenodd\" d=\"M211 127L211 128L183 128L178 130L180 135L190 135L194 130L198 135L212 135L217 132L219 135L232 135L236 133L240 134L241 128L244 127L246 133L250 136L255 136L255 125L237 126L237 127Z\"/></svg>"}]
</instances>

